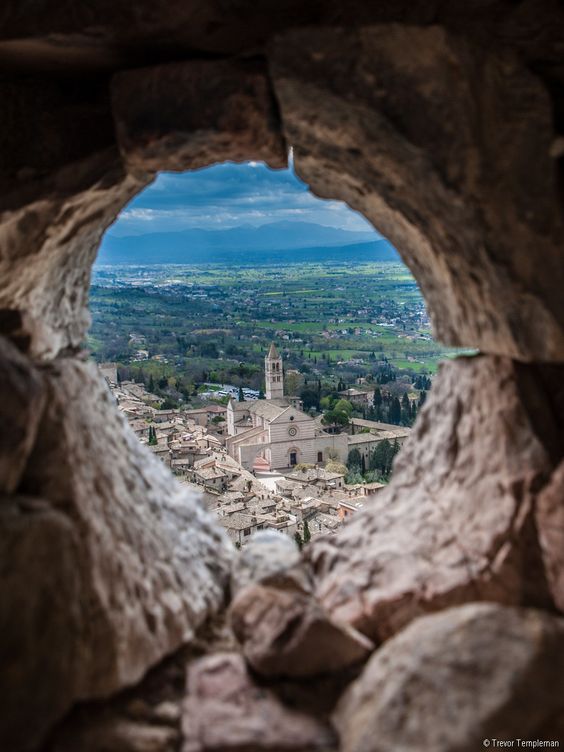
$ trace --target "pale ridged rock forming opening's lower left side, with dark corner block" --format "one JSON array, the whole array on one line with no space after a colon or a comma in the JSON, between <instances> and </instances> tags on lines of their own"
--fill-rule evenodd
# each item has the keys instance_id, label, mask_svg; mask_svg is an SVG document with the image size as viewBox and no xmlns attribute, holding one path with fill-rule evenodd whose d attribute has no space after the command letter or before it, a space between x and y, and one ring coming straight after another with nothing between
<instances>
[{"instance_id":1,"label":"pale ridged rock forming opening's lower left side, with dark corner block","mask_svg":"<svg viewBox=\"0 0 564 752\"><path fill-rule=\"evenodd\" d=\"M138 681L189 641L223 603L233 550L139 444L93 364L62 359L42 373L47 407L20 490L48 506L9 517L0 549L10 749L39 739L72 700Z\"/></svg>"}]
</instances>

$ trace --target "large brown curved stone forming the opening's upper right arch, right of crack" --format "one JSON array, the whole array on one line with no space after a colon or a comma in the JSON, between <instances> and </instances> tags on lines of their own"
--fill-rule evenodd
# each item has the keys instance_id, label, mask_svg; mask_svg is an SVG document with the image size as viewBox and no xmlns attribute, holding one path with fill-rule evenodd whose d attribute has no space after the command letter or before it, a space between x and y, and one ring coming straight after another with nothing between
<instances>
[{"instance_id":1,"label":"large brown curved stone forming the opening's upper right arch, right of crack","mask_svg":"<svg viewBox=\"0 0 564 752\"><path fill-rule=\"evenodd\" d=\"M298 174L398 248L438 338L564 359L563 211L543 83L508 51L440 27L296 30L271 63Z\"/></svg>"}]
</instances>

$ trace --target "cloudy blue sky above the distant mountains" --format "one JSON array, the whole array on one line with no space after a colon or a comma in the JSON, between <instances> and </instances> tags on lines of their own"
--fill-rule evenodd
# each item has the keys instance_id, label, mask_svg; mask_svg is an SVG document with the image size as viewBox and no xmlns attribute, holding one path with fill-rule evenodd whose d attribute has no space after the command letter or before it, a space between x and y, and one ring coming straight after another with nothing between
<instances>
[{"instance_id":1,"label":"cloudy blue sky above the distant mountains","mask_svg":"<svg viewBox=\"0 0 564 752\"><path fill-rule=\"evenodd\" d=\"M161 173L122 211L109 234L256 227L282 220L372 230L345 204L313 196L292 168L271 170L261 162L226 162L192 172Z\"/></svg>"}]
</instances>

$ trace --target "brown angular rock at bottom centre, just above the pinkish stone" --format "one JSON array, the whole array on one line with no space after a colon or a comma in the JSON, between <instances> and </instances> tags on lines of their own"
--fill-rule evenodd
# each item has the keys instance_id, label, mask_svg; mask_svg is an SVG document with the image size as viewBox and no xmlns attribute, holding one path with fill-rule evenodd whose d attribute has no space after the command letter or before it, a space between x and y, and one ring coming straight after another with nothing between
<instances>
[{"instance_id":1,"label":"brown angular rock at bottom centre, just above the pinkish stone","mask_svg":"<svg viewBox=\"0 0 564 752\"><path fill-rule=\"evenodd\" d=\"M263 676L309 677L365 661L373 644L332 621L311 594L295 587L249 585L231 605L243 654Z\"/></svg>"}]
</instances>

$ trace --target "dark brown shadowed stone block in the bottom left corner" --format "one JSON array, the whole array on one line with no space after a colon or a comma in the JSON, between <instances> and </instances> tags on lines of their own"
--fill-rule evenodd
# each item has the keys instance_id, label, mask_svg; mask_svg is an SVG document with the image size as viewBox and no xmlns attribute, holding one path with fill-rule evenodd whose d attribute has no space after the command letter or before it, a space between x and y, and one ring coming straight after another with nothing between
<instances>
[{"instance_id":1,"label":"dark brown shadowed stone block in the bottom left corner","mask_svg":"<svg viewBox=\"0 0 564 752\"><path fill-rule=\"evenodd\" d=\"M82 690L81 546L76 527L51 504L0 499L2 749L28 749Z\"/></svg>"}]
</instances>

